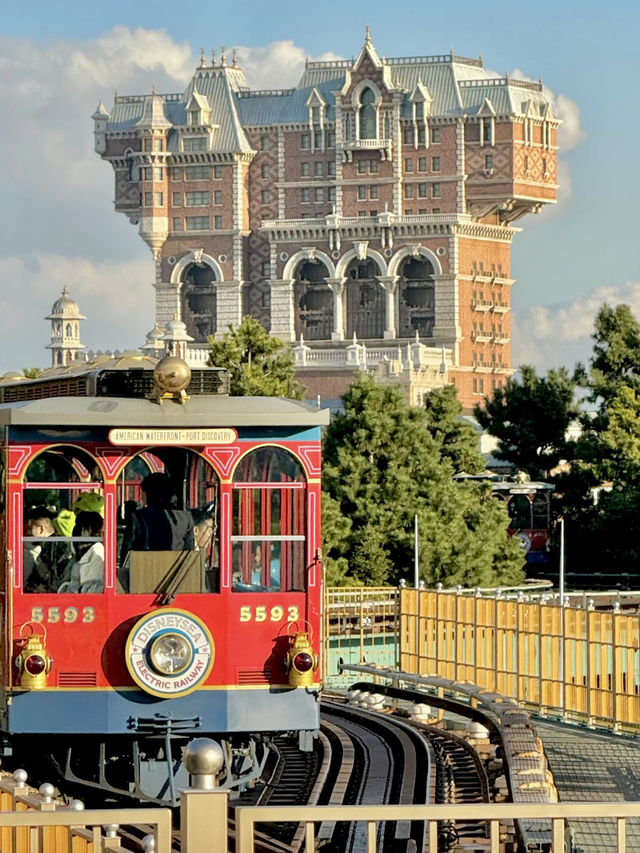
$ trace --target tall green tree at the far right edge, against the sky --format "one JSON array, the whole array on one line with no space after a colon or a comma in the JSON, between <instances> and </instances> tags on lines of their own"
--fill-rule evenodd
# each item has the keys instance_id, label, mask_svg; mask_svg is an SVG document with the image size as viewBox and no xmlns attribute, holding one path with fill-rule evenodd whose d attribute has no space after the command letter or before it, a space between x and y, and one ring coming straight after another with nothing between
<instances>
[{"instance_id":1,"label":"tall green tree at the far right edge, against the sky","mask_svg":"<svg viewBox=\"0 0 640 853\"><path fill-rule=\"evenodd\" d=\"M593 340L588 368L576 372L588 405L582 434L556 489L570 572L623 580L640 568L640 324L628 305L603 305Z\"/></svg>"}]
</instances>

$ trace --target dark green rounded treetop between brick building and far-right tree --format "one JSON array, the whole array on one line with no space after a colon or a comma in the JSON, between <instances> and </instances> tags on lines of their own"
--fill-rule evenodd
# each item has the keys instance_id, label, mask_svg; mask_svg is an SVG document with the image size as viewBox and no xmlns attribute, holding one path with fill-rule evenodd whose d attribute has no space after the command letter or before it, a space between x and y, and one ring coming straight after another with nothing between
<instances>
[{"instance_id":1,"label":"dark green rounded treetop between brick building and far-right tree","mask_svg":"<svg viewBox=\"0 0 640 853\"><path fill-rule=\"evenodd\" d=\"M520 378L511 377L496 388L474 414L498 439L496 458L526 471L533 480L548 479L560 460L572 455L565 436L578 415L576 381L564 367L543 377L523 365L520 373Z\"/></svg>"}]
</instances>

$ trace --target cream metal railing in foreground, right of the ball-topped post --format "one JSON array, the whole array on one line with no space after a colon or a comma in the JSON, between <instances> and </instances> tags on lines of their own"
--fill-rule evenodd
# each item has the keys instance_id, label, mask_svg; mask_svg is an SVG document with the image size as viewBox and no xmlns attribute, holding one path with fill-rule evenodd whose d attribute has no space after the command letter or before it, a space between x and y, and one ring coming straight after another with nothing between
<instances>
[{"instance_id":1,"label":"cream metal railing in foreground, right of the ball-topped post","mask_svg":"<svg viewBox=\"0 0 640 853\"><path fill-rule=\"evenodd\" d=\"M346 821L367 823L366 853L376 853L380 821L427 821L429 849L438 849L438 822L479 820L489 823L490 853L499 853L500 825L513 821L551 822L549 853L565 851L565 821L617 821L616 853L627 853L627 820L640 818L640 803L483 803L464 805L376 805L376 806L243 806L236 809L236 853L253 853L257 823L302 822L306 826L306 853L315 853L314 823ZM190 851L186 851L190 853ZM628 853L631 853L629 848Z\"/></svg>"}]
</instances>

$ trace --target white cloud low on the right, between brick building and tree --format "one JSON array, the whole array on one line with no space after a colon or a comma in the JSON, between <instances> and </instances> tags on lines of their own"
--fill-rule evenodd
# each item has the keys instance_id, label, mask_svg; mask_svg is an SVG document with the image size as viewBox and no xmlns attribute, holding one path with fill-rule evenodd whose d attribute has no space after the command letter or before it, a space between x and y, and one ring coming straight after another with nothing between
<instances>
[{"instance_id":1,"label":"white cloud low on the right, between brick building and tree","mask_svg":"<svg viewBox=\"0 0 640 853\"><path fill-rule=\"evenodd\" d=\"M512 363L533 364L539 371L577 361L588 361L593 346L596 314L607 303L629 305L640 318L640 282L602 285L577 296L572 302L534 305L514 310L511 335Z\"/></svg>"}]
</instances>

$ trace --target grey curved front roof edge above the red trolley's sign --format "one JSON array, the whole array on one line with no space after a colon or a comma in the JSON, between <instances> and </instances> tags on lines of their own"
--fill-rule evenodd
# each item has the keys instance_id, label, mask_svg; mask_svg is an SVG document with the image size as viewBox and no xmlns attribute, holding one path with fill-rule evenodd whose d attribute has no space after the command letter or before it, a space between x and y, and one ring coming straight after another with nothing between
<instances>
[{"instance_id":1,"label":"grey curved front roof edge above the red trolley's sign","mask_svg":"<svg viewBox=\"0 0 640 853\"><path fill-rule=\"evenodd\" d=\"M48 397L0 404L2 426L323 426L329 409L283 397L194 396L184 405L125 397Z\"/></svg>"}]
</instances>

